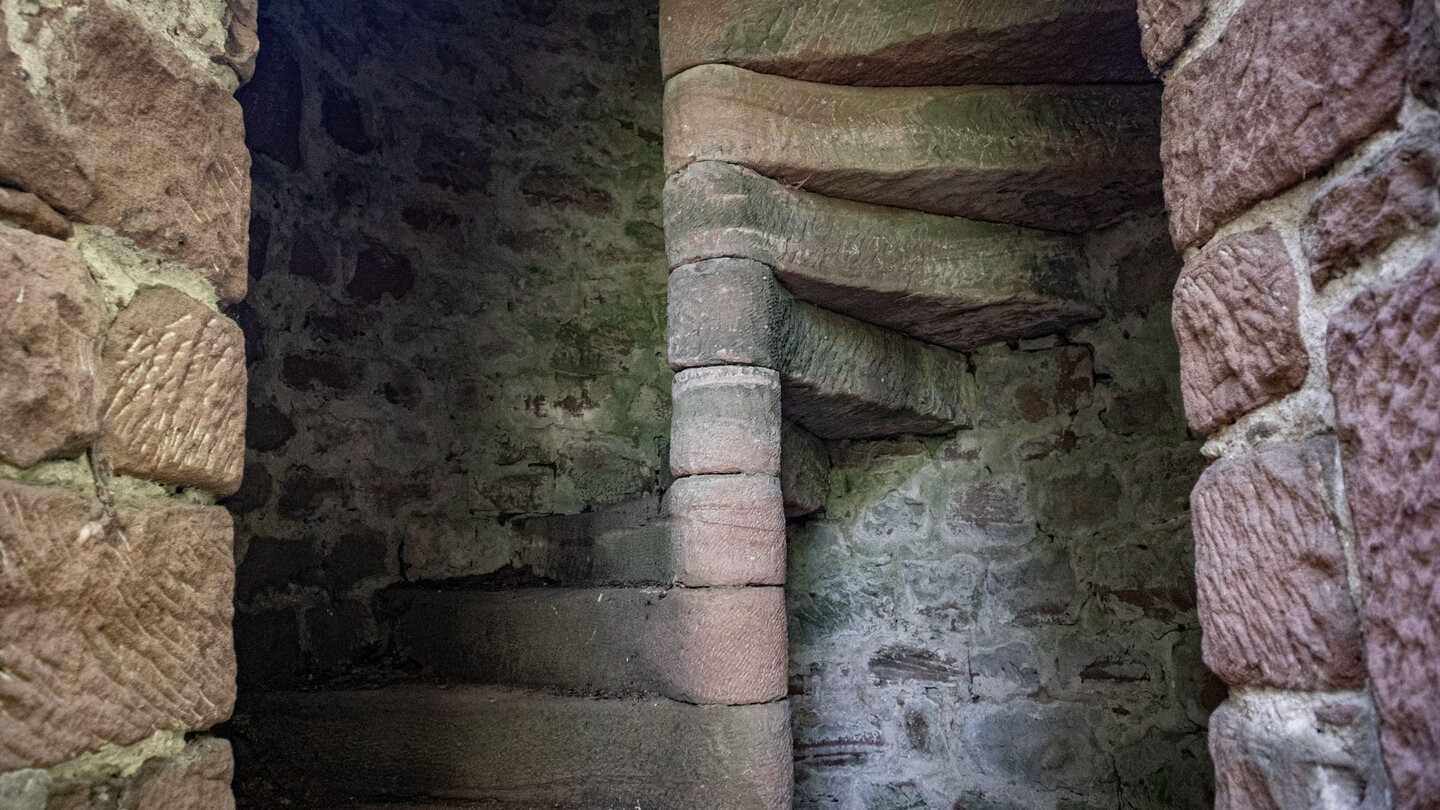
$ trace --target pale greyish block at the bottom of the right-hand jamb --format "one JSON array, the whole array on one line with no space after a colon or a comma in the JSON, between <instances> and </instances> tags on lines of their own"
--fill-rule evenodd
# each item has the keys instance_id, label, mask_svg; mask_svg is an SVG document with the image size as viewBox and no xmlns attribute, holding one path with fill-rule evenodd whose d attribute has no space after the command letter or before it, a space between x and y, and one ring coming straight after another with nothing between
<instances>
[{"instance_id":1,"label":"pale greyish block at the bottom of the right-hand jamb","mask_svg":"<svg viewBox=\"0 0 1440 810\"><path fill-rule=\"evenodd\" d=\"M1231 693L1210 716L1215 810L1380 810L1377 748L1364 692Z\"/></svg>"}]
</instances>

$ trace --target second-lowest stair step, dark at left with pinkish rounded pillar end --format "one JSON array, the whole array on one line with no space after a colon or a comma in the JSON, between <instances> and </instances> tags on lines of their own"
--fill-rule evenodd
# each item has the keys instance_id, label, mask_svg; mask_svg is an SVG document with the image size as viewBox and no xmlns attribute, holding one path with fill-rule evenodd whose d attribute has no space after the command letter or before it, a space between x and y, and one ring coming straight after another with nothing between
<instances>
[{"instance_id":1,"label":"second-lowest stair step, dark at left with pinkish rounded pillar end","mask_svg":"<svg viewBox=\"0 0 1440 810\"><path fill-rule=\"evenodd\" d=\"M778 587L415 588L395 597L396 651L431 677L713 705L785 696Z\"/></svg>"}]
</instances>

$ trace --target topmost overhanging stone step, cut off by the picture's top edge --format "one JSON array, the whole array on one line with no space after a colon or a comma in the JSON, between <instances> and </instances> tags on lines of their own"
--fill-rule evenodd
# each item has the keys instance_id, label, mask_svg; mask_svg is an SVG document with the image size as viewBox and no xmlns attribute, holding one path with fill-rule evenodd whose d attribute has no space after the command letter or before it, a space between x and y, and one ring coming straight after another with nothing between
<instances>
[{"instance_id":1,"label":"topmost overhanging stone step, cut off by the picture's top edge","mask_svg":"<svg viewBox=\"0 0 1440 810\"><path fill-rule=\"evenodd\" d=\"M1140 82L1135 0L662 0L665 76L740 65L841 85Z\"/></svg>"}]
</instances>

